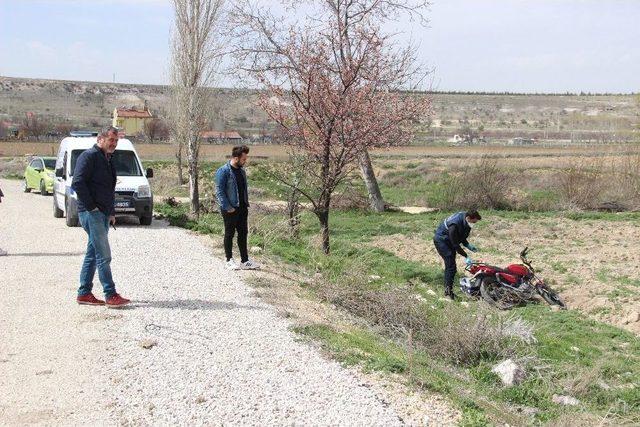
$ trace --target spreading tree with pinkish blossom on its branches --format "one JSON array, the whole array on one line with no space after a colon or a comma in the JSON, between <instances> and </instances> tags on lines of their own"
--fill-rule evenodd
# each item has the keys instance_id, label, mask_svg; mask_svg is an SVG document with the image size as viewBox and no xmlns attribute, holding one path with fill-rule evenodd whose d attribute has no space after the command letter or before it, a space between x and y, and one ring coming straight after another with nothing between
<instances>
[{"instance_id":1,"label":"spreading tree with pinkish blossom on its branches","mask_svg":"<svg viewBox=\"0 0 640 427\"><path fill-rule=\"evenodd\" d=\"M309 28L282 28L249 1L234 10L241 69L262 83L260 105L278 125L290 161L274 173L309 200L329 253L333 194L351 177L370 148L407 143L429 101L412 92L416 74L410 49L395 51L373 23L363 23L343 57L341 31L333 21ZM243 43L244 43L243 42Z\"/></svg>"}]
</instances>

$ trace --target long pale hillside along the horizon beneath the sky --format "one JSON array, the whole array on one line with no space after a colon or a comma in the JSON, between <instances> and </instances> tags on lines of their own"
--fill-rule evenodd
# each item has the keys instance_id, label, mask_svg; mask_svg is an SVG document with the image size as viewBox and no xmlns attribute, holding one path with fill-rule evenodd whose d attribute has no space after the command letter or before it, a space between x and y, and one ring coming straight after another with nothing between
<instances>
[{"instance_id":1,"label":"long pale hillside along the horizon beneath the sky","mask_svg":"<svg viewBox=\"0 0 640 427\"><path fill-rule=\"evenodd\" d=\"M212 89L211 128L243 135L270 132L273 125L255 106L257 92ZM577 133L635 138L638 95L432 93L433 116L420 139L447 139L471 130L490 138L531 136L566 139ZM142 106L166 117L167 86L0 77L0 120L19 123L27 112L52 124L100 127L117 106ZM595 136L594 136L595 137Z\"/></svg>"}]
</instances>

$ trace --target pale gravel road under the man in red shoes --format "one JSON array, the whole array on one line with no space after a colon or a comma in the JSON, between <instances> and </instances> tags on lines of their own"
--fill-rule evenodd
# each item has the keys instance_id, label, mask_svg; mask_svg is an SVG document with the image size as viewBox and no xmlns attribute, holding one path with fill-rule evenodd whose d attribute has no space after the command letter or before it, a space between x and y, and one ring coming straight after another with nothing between
<instances>
[{"instance_id":1,"label":"pale gravel road under the man in red shoes","mask_svg":"<svg viewBox=\"0 0 640 427\"><path fill-rule=\"evenodd\" d=\"M204 238L164 222L110 231L131 308L76 305L84 232L53 218L51 197L0 186L0 424L402 424Z\"/></svg>"}]
</instances>

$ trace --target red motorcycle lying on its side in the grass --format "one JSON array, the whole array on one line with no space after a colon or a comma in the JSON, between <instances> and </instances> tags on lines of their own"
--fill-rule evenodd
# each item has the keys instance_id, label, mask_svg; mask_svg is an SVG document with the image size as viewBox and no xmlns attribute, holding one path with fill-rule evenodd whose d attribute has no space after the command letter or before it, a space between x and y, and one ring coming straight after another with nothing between
<instances>
[{"instance_id":1,"label":"red motorcycle lying on its side in the grass","mask_svg":"<svg viewBox=\"0 0 640 427\"><path fill-rule=\"evenodd\" d=\"M560 295L538 277L527 259L529 248L520 252L522 264L500 268L483 262L474 262L465 268L472 277L460 279L460 289L470 295L478 294L490 305L508 310L539 295L549 305L566 309Z\"/></svg>"}]
</instances>

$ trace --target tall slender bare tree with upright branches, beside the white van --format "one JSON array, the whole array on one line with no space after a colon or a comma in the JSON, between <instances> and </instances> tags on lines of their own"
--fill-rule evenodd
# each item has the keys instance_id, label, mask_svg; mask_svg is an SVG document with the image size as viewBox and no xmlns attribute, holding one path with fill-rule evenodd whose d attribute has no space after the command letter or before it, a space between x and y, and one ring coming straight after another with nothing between
<instances>
[{"instance_id":1,"label":"tall slender bare tree with upright branches, beside the white van","mask_svg":"<svg viewBox=\"0 0 640 427\"><path fill-rule=\"evenodd\" d=\"M220 58L219 22L223 0L173 0L175 11L171 56L173 139L187 150L191 213L200 212L198 152L207 122L209 87Z\"/></svg>"}]
</instances>

